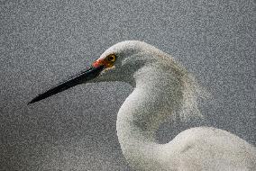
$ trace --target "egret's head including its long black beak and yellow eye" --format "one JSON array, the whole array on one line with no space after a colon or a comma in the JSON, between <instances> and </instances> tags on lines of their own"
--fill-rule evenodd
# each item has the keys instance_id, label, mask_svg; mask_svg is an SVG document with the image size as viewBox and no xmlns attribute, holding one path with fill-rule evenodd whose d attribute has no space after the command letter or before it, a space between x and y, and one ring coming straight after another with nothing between
<instances>
[{"instance_id":1,"label":"egret's head including its long black beak and yellow eye","mask_svg":"<svg viewBox=\"0 0 256 171\"><path fill-rule=\"evenodd\" d=\"M92 82L123 81L134 84L133 74L146 63L150 63L151 45L138 41L126 40L106 49L86 70L67 81L56 85L43 94L39 94L30 103L35 103L53 94L58 94L72 86Z\"/></svg>"}]
</instances>

